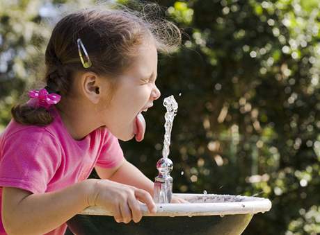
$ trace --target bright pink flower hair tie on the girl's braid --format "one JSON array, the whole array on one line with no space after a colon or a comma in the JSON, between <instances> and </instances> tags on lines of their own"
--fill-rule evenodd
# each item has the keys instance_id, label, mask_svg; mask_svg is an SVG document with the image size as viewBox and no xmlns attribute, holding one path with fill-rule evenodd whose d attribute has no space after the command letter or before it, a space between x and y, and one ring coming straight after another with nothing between
<instances>
[{"instance_id":1,"label":"bright pink flower hair tie on the girl's braid","mask_svg":"<svg viewBox=\"0 0 320 235\"><path fill-rule=\"evenodd\" d=\"M56 105L61 100L60 95L55 93L49 94L45 88L40 89L40 91L30 91L29 97L33 99L32 103L35 104L35 107L44 107L46 110L49 109L51 105Z\"/></svg>"}]
</instances>

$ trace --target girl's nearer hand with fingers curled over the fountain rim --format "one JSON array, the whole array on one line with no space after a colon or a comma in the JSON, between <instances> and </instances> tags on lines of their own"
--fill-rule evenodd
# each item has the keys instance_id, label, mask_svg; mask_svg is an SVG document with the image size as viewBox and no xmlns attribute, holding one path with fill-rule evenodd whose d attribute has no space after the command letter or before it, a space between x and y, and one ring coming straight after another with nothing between
<instances>
[{"instance_id":1,"label":"girl's nearer hand with fingers curled over the fountain rim","mask_svg":"<svg viewBox=\"0 0 320 235\"><path fill-rule=\"evenodd\" d=\"M156 213L156 205L150 193L134 186L111 180L96 180L93 192L88 196L89 206L99 206L112 211L115 221L138 223L142 218L139 201L147 205L150 213ZM138 201L139 200L139 201Z\"/></svg>"}]
</instances>

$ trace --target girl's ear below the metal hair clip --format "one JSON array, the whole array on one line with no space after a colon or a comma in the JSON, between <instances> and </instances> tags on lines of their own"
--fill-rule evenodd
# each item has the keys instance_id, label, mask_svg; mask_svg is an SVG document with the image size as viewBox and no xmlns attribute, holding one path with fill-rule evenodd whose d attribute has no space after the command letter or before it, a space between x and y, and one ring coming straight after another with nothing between
<instances>
[{"instance_id":1,"label":"girl's ear below the metal hair clip","mask_svg":"<svg viewBox=\"0 0 320 235\"><path fill-rule=\"evenodd\" d=\"M100 79L95 73L83 73L82 76L83 94L94 104L102 98Z\"/></svg>"}]
</instances>

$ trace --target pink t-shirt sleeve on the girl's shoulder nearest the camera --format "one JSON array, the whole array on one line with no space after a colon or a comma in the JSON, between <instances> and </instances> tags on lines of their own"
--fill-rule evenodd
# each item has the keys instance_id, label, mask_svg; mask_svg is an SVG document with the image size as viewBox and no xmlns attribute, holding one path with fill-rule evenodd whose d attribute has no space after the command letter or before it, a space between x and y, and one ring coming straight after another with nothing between
<instances>
[{"instance_id":1,"label":"pink t-shirt sleeve on the girl's shoulder nearest the camera","mask_svg":"<svg viewBox=\"0 0 320 235\"><path fill-rule=\"evenodd\" d=\"M1 146L0 186L45 193L61 163L61 148L45 129L20 130Z\"/></svg>"}]
</instances>

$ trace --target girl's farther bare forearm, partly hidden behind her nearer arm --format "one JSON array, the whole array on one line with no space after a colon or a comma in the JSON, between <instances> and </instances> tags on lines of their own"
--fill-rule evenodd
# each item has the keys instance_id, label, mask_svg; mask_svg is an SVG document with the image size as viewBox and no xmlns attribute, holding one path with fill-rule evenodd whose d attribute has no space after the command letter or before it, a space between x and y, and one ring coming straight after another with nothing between
<instances>
[{"instance_id":1,"label":"girl's farther bare forearm, partly hidden behind her nearer arm","mask_svg":"<svg viewBox=\"0 0 320 235\"><path fill-rule=\"evenodd\" d=\"M102 179L109 179L121 184L135 186L153 195L154 183L146 177L136 166L124 159L120 166L116 168L102 168L95 166L95 171Z\"/></svg>"}]
</instances>

